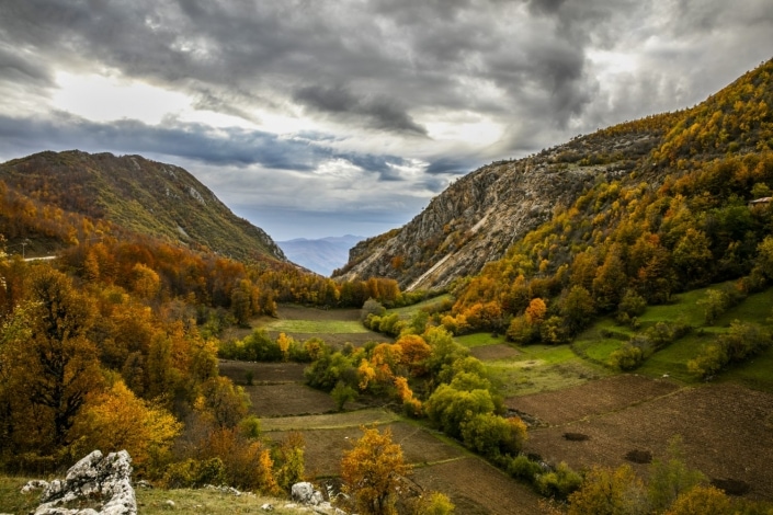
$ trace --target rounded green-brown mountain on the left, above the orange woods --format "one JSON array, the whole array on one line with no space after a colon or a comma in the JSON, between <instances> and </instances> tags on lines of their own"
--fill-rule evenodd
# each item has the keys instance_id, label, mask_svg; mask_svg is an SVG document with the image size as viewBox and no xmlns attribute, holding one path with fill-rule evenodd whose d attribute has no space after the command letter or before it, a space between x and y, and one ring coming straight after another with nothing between
<instances>
[{"instance_id":1,"label":"rounded green-brown mountain on the left, above the orange woods","mask_svg":"<svg viewBox=\"0 0 773 515\"><path fill-rule=\"evenodd\" d=\"M140 156L48 151L0 164L0 180L45 205L130 232L238 260L285 260L262 229L172 164Z\"/></svg>"}]
</instances>

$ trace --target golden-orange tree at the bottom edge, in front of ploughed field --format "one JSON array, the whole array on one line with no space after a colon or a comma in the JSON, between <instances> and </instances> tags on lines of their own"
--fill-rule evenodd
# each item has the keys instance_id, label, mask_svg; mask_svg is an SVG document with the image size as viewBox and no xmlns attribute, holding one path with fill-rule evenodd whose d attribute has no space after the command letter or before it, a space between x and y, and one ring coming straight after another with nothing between
<instances>
[{"instance_id":1,"label":"golden-orange tree at the bottom edge, in front of ploughed field","mask_svg":"<svg viewBox=\"0 0 773 515\"><path fill-rule=\"evenodd\" d=\"M354 496L359 513L394 514L400 478L410 473L411 467L403 461L400 445L393 443L390 430L362 430L362 438L341 461L344 487Z\"/></svg>"}]
</instances>

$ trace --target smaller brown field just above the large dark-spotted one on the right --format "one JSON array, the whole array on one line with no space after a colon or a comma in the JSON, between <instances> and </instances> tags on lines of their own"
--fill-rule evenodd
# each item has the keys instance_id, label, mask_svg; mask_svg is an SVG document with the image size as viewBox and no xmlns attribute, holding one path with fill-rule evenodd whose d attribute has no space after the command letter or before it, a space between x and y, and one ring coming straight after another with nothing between
<instances>
[{"instance_id":1,"label":"smaller brown field just above the large dark-spotted one on the right","mask_svg":"<svg viewBox=\"0 0 773 515\"><path fill-rule=\"evenodd\" d=\"M567 388L533 396L507 399L504 404L536 416L548 424L565 424L589 415L599 415L622 410L666 396L679 387L673 382L649 379L644 376L613 376Z\"/></svg>"}]
</instances>

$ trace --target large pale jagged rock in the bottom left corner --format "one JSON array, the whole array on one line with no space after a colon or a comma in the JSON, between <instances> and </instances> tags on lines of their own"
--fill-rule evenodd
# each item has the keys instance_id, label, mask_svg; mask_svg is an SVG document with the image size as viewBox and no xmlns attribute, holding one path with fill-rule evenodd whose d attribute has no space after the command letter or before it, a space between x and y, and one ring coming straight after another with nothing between
<instances>
[{"instance_id":1,"label":"large pale jagged rock in the bottom left corner","mask_svg":"<svg viewBox=\"0 0 773 515\"><path fill-rule=\"evenodd\" d=\"M65 480L31 481L22 491L44 488L35 515L136 515L137 500L130 482L132 458L128 453L111 453L106 457L94 450L73 465ZM99 512L93 508L68 510L67 503L102 500Z\"/></svg>"}]
</instances>

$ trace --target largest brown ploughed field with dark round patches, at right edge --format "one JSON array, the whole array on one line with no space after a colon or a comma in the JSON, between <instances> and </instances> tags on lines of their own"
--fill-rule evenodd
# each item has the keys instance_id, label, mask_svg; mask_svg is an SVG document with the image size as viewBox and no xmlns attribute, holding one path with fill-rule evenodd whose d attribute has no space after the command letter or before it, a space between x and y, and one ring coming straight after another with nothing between
<instances>
[{"instance_id":1,"label":"largest brown ploughed field with dark round patches, at right edge","mask_svg":"<svg viewBox=\"0 0 773 515\"><path fill-rule=\"evenodd\" d=\"M564 392L571 402L570 390ZM555 400L557 401L557 399ZM544 407L541 412L548 411ZM712 479L744 481L749 499L773 501L773 394L735 385L683 388L672 394L562 426L530 433L526 450L549 462L566 461L575 469L594 464L618 467L634 449L662 458L669 439L681 435L685 461ZM584 442L569 442L564 433L581 433ZM647 474L646 465L634 465Z\"/></svg>"}]
</instances>

